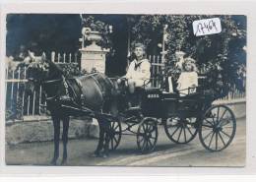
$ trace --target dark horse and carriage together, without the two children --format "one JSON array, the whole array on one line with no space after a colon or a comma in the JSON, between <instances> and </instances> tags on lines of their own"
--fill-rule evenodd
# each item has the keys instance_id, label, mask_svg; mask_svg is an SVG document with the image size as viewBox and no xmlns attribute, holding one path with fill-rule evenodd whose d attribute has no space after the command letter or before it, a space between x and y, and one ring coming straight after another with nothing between
<instances>
[{"instance_id":1,"label":"dark horse and carriage together, without the two children","mask_svg":"<svg viewBox=\"0 0 256 182\"><path fill-rule=\"evenodd\" d=\"M59 153L60 120L63 120L63 162L66 161L70 115L88 115L98 120L96 154L101 150L107 152L108 147L116 150L124 134L136 136L140 152L152 152L158 141L159 124L176 144L189 143L198 133L202 145L212 152L224 150L235 135L234 114L225 105L213 105L213 92L204 87L180 96L178 92L165 92L148 84L135 93L139 106L127 109L130 101L127 92L119 91L115 80L99 73L67 79L54 63L42 57L29 66L28 77L30 91L41 85L46 93L54 125L53 164ZM67 95L72 99L67 100Z\"/></svg>"}]
</instances>

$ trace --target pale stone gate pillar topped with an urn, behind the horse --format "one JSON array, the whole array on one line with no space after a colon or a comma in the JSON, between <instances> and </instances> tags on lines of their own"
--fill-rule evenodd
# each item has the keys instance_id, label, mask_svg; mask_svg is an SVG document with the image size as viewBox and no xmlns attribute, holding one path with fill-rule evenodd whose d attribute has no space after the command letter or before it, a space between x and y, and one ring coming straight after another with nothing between
<instances>
[{"instance_id":1,"label":"pale stone gate pillar topped with an urn, behind the horse","mask_svg":"<svg viewBox=\"0 0 256 182\"><path fill-rule=\"evenodd\" d=\"M93 69L97 72L105 73L105 54L109 51L103 49L96 44L101 40L101 35L98 31L92 31L90 28L83 28L82 30L81 46L81 69L91 73ZM92 41L92 44L85 46L85 41Z\"/></svg>"}]
</instances>

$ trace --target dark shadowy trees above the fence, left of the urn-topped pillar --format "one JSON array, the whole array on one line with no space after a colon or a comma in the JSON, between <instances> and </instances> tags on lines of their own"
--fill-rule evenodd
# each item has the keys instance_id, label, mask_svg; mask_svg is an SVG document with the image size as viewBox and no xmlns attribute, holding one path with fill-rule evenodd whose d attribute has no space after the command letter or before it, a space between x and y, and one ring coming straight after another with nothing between
<instances>
[{"instance_id":1,"label":"dark shadowy trees above the fence, left of the urn-topped pillar","mask_svg":"<svg viewBox=\"0 0 256 182\"><path fill-rule=\"evenodd\" d=\"M81 36L81 19L75 14L9 14L7 16L7 56L14 55L21 44L33 42L45 52L76 52Z\"/></svg>"}]
</instances>

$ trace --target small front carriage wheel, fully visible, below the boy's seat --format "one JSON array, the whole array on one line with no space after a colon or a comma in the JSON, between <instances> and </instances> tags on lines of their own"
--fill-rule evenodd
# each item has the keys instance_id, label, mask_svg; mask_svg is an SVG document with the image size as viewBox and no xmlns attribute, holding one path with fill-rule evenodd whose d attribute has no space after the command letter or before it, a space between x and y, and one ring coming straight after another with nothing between
<instances>
[{"instance_id":1,"label":"small front carriage wheel, fully visible, below the boy's seat","mask_svg":"<svg viewBox=\"0 0 256 182\"><path fill-rule=\"evenodd\" d=\"M137 132L137 146L142 153L154 151L158 141L158 123L154 118L145 118Z\"/></svg>"}]
</instances>

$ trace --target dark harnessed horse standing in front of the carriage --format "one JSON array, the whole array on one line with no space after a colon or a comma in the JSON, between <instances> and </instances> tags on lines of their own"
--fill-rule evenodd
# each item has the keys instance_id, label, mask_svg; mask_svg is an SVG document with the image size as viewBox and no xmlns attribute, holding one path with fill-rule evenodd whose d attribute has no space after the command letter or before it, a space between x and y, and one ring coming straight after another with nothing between
<instances>
[{"instance_id":1,"label":"dark harnessed horse standing in front of the carriage","mask_svg":"<svg viewBox=\"0 0 256 182\"><path fill-rule=\"evenodd\" d=\"M33 92L39 86L46 93L47 109L51 113L54 126L54 155L51 164L55 165L59 156L60 120L63 121L63 159L67 161L69 116L88 115L95 117L99 125L99 139L94 155L107 156L110 122L100 113L116 114L114 103L116 85L100 73L67 79L62 70L43 54L32 60L28 67L27 91ZM84 110L84 112L81 112ZM87 112L88 111L88 112Z\"/></svg>"}]
</instances>

